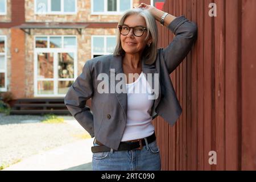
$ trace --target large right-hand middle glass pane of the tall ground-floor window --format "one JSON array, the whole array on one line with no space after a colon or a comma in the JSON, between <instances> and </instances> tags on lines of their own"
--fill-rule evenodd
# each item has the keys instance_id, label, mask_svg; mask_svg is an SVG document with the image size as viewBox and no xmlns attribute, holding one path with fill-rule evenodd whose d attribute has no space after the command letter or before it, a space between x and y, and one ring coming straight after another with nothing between
<instances>
[{"instance_id":1,"label":"large right-hand middle glass pane of the tall ground-floor window","mask_svg":"<svg viewBox=\"0 0 256 182\"><path fill-rule=\"evenodd\" d=\"M74 77L74 53L59 53L58 54L59 78L73 78Z\"/></svg>"}]
</instances>

